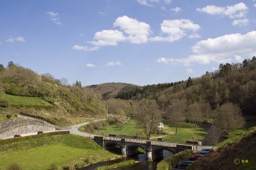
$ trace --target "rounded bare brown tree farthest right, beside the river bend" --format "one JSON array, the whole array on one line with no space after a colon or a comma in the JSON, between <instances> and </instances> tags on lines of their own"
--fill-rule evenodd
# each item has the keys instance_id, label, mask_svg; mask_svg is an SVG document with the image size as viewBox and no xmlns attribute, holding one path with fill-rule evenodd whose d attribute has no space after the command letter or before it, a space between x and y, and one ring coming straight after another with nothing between
<instances>
[{"instance_id":1,"label":"rounded bare brown tree farthest right, beside the river bend","mask_svg":"<svg viewBox=\"0 0 256 170\"><path fill-rule=\"evenodd\" d=\"M225 103L217 109L215 125L220 127L224 136L229 136L230 131L244 124L241 109L232 103Z\"/></svg>"}]
</instances>

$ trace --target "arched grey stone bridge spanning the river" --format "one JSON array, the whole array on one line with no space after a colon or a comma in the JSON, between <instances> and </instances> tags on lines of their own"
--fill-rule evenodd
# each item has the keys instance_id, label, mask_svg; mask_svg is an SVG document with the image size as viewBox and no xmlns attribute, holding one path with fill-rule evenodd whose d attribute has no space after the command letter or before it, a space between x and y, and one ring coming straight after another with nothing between
<instances>
[{"instance_id":1,"label":"arched grey stone bridge spanning the river","mask_svg":"<svg viewBox=\"0 0 256 170\"><path fill-rule=\"evenodd\" d=\"M105 150L113 150L117 147L120 147L121 154L123 156L131 156L137 154L138 148L140 147L146 151L147 161L153 161L163 157L163 150L168 150L175 154L182 150L193 149L193 145L189 144L118 137L94 136L94 141L101 145Z\"/></svg>"}]
</instances>

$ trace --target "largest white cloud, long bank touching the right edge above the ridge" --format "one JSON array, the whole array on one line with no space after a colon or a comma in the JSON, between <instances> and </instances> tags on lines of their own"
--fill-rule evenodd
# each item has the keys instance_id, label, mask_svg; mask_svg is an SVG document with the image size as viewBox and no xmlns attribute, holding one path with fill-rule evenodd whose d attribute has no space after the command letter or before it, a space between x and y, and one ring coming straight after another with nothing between
<instances>
[{"instance_id":1,"label":"largest white cloud, long bank touching the right edge above the ridge","mask_svg":"<svg viewBox=\"0 0 256 170\"><path fill-rule=\"evenodd\" d=\"M241 62L244 58L255 55L256 31L247 34L227 34L217 38L209 38L192 46L194 54L182 59L157 59L156 62L190 66L193 63L209 64L210 62Z\"/></svg>"}]
</instances>

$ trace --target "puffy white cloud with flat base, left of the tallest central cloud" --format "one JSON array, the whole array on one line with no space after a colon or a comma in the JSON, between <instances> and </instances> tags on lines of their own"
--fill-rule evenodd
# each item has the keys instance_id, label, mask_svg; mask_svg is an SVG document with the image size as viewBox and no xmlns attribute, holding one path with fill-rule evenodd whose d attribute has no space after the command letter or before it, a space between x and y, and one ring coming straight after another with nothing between
<instances>
[{"instance_id":1,"label":"puffy white cloud with flat base, left of the tallest central cloud","mask_svg":"<svg viewBox=\"0 0 256 170\"><path fill-rule=\"evenodd\" d=\"M125 40L125 36L118 30L102 30L96 32L93 39L96 41L89 41L89 43L96 46L117 45L117 42Z\"/></svg>"}]
</instances>

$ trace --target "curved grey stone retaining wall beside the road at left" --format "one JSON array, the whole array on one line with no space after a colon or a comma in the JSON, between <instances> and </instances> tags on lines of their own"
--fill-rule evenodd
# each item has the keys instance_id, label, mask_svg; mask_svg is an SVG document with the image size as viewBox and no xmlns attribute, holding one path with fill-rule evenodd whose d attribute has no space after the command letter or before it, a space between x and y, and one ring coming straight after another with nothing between
<instances>
[{"instance_id":1,"label":"curved grey stone retaining wall beside the road at left","mask_svg":"<svg viewBox=\"0 0 256 170\"><path fill-rule=\"evenodd\" d=\"M38 119L12 119L0 123L0 139L14 136L15 134L32 133L38 131L55 130L55 125Z\"/></svg>"}]
</instances>

